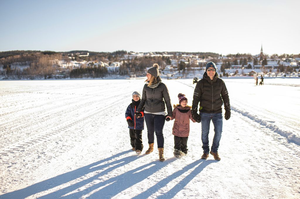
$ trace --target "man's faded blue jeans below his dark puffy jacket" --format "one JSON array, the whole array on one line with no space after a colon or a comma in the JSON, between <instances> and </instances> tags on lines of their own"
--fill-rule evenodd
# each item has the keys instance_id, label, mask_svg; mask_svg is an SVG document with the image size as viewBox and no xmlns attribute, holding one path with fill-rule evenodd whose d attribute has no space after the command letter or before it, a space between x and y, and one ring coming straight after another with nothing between
<instances>
[{"instance_id":1,"label":"man's faded blue jeans below his dark puffy jacket","mask_svg":"<svg viewBox=\"0 0 300 199\"><path fill-rule=\"evenodd\" d=\"M222 113L201 113L201 140L202 140L202 148L203 153L209 153L209 144L208 144L208 133L209 133L209 125L210 121L214 124L214 139L211 145L211 151L216 153L218 151L220 145L220 139L222 134L223 127L223 116Z\"/></svg>"}]
</instances>

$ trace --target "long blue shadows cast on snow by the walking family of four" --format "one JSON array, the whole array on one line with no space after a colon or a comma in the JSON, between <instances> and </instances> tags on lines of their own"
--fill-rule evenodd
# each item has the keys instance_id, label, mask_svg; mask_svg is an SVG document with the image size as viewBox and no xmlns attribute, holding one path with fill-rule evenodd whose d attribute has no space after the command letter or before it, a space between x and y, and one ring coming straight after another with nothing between
<instances>
[{"instance_id":1,"label":"long blue shadows cast on snow by the walking family of four","mask_svg":"<svg viewBox=\"0 0 300 199\"><path fill-rule=\"evenodd\" d=\"M131 150L129 150L131 151ZM48 189L52 189L56 186L60 186L64 183L68 183L72 180L75 180L79 177L82 177L86 174L89 174L94 171L103 170L98 174L95 174L88 179L82 180L80 182L76 182L71 184L65 188L59 189L47 195L39 197L40 199L53 199L53 198L80 198L84 195L87 195L91 192L92 193L88 198L112 198L113 196L119 194L120 192L134 186L135 184L145 180L147 177L151 176L155 172L159 171L160 169L164 168L171 162L175 161L176 158L167 159L164 162L153 161L148 164L142 165L140 167L134 168L130 171L127 171L121 175L116 177L111 177L103 182L91 184L91 186L84 188L83 190L79 190L82 186L86 186L89 183L92 183L94 180L98 180L99 177L108 174L109 172L113 171L116 168L119 168L123 165L126 165L134 160L137 160L143 155L140 156L128 156L118 160L114 160L109 163L104 163L110 161L114 158L117 158L121 155L128 153L129 151L123 151L116 155L113 155L109 158L94 162L90 165L86 165L84 167L78 168L74 171L70 171L56 177L52 177L50 179L44 180L42 182L33 184L23 189L19 189L13 192L9 192L3 195L0 195L0 198L13 198L13 199L20 199L26 198L28 196L46 191ZM155 184L154 186L150 187L146 191L140 193L139 195L135 196L134 198L148 198L152 194L156 193L159 189L166 186L169 182L176 179L177 177L184 174L186 171L196 167L193 171L190 172L184 179L181 180L180 183L177 183L172 189L170 189L167 193L165 193L162 197L163 198L173 198L179 191L181 191L184 186L186 186L197 174L199 174L208 164L214 161L203 161L202 159L196 160L195 162L186 165L182 170L176 171L175 173L171 174L168 177L165 177L160 182ZM104 164L102 164L104 163ZM99 165L102 164L102 165ZM113 165L113 166L111 166ZM110 167L111 166L111 167ZM106 169L107 168L107 169ZM101 188L102 187L102 188ZM96 190L100 189L100 190ZM79 190L78 192L74 192L69 194L70 192Z\"/></svg>"}]
</instances>

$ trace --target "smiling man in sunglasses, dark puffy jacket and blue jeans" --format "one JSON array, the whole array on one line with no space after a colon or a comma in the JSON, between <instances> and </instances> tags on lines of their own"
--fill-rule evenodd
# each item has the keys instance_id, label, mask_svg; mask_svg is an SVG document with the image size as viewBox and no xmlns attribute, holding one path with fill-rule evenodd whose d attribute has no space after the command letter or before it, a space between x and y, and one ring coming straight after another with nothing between
<instances>
[{"instance_id":1,"label":"smiling man in sunglasses, dark puffy jacket and blue jeans","mask_svg":"<svg viewBox=\"0 0 300 199\"><path fill-rule=\"evenodd\" d=\"M222 105L224 101L225 119L230 118L230 104L228 91L225 83L218 77L216 72L217 68L215 63L208 62L205 67L203 78L198 81L192 105L193 119L197 122L201 121L201 140L203 155L201 159L207 159L209 154L208 133L210 121L214 124L214 139L211 145L210 154L214 156L215 160L220 160L218 154L219 143L221 139L223 118L222 118ZM200 115L198 112L198 104L200 102Z\"/></svg>"}]
</instances>

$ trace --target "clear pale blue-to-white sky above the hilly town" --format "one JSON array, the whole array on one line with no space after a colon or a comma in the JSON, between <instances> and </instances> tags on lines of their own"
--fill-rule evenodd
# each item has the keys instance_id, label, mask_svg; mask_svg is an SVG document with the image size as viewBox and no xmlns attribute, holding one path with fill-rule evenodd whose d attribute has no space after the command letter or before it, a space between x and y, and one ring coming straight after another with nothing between
<instances>
[{"instance_id":1,"label":"clear pale blue-to-white sky above the hilly town","mask_svg":"<svg viewBox=\"0 0 300 199\"><path fill-rule=\"evenodd\" d=\"M0 0L0 51L300 53L300 1Z\"/></svg>"}]
</instances>

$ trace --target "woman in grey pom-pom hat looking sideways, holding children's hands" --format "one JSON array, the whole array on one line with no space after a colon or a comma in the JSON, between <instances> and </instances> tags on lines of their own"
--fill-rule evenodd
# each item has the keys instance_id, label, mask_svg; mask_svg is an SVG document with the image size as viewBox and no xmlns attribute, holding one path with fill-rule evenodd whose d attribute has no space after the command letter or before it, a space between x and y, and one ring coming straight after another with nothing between
<instances>
[{"instance_id":1,"label":"woman in grey pom-pom hat looking sideways, holding children's hands","mask_svg":"<svg viewBox=\"0 0 300 199\"><path fill-rule=\"evenodd\" d=\"M143 88L142 100L137 108L136 117L142 116L141 110L145 107L144 117L148 130L149 149L146 154L153 151L154 132L157 139L159 160L164 161L164 135L163 128L165 119L171 119L172 106L167 86L161 82L158 75L158 64L153 64L153 67L147 70L147 80ZM167 105L167 116L165 113Z\"/></svg>"}]
</instances>

